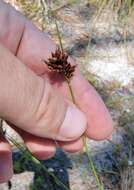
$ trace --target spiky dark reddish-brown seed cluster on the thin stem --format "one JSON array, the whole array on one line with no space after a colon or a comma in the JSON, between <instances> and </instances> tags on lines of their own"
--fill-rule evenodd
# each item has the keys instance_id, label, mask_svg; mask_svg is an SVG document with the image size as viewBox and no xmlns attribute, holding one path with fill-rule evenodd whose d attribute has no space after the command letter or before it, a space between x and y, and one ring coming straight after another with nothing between
<instances>
[{"instance_id":1,"label":"spiky dark reddish-brown seed cluster on the thin stem","mask_svg":"<svg viewBox=\"0 0 134 190\"><path fill-rule=\"evenodd\" d=\"M51 57L48 61L44 61L51 71L58 72L63 77L70 81L75 71L76 65L71 65L68 62L68 54L61 51L58 47L54 53L51 53Z\"/></svg>"}]
</instances>

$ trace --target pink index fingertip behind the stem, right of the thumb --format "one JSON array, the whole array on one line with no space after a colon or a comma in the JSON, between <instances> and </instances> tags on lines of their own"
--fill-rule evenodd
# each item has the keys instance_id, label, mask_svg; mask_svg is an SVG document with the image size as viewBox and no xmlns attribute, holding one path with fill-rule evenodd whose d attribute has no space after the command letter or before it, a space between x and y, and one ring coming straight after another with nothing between
<instances>
[{"instance_id":1,"label":"pink index fingertip behind the stem, right of the thumb","mask_svg":"<svg viewBox=\"0 0 134 190\"><path fill-rule=\"evenodd\" d=\"M113 131L113 121L96 90L79 72L72 80L72 88L78 107L88 118L87 136L94 140L103 140L109 137Z\"/></svg>"}]
</instances>

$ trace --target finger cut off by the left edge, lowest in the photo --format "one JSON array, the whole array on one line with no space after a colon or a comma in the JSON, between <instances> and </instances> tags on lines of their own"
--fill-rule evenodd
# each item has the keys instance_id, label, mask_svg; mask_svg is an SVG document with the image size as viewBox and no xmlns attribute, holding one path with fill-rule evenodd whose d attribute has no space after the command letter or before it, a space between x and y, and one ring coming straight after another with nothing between
<instances>
[{"instance_id":1,"label":"finger cut off by the left edge, lowest in the photo","mask_svg":"<svg viewBox=\"0 0 134 190\"><path fill-rule=\"evenodd\" d=\"M0 183L7 182L12 175L11 146L2 136L0 136Z\"/></svg>"}]
</instances>

